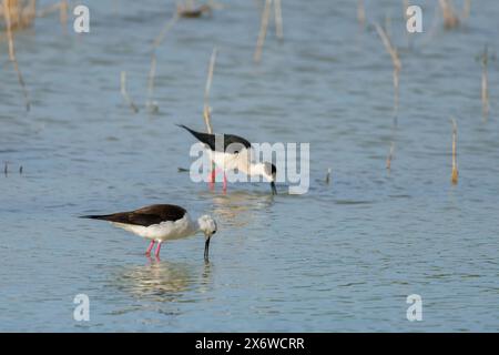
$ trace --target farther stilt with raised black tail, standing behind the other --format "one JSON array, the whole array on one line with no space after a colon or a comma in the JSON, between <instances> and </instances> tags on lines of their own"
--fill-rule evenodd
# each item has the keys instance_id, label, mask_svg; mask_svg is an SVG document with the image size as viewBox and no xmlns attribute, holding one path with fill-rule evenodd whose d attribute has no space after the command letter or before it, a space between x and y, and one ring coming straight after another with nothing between
<instances>
[{"instance_id":1,"label":"farther stilt with raised black tail, standing behind the other","mask_svg":"<svg viewBox=\"0 0 499 355\"><path fill-rule=\"evenodd\" d=\"M251 160L252 144L247 140L234 134L202 133L191 130L183 124L177 125L189 131L200 142L206 145L211 160L224 171L224 191L227 189L225 172L228 170L237 170L248 176L263 176L271 182L272 193L277 194L277 189L275 187L277 169L269 162L253 163ZM211 185L215 182L215 170L212 170L211 176L208 176Z\"/></svg>"}]
</instances>

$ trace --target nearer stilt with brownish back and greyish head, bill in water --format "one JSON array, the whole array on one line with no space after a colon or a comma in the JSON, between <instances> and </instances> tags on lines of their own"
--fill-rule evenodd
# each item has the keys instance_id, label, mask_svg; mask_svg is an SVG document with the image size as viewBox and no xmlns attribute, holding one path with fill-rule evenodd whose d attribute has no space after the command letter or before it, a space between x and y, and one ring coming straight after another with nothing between
<instances>
[{"instance_id":1,"label":"nearer stilt with brownish back and greyish head, bill in water","mask_svg":"<svg viewBox=\"0 0 499 355\"><path fill-rule=\"evenodd\" d=\"M210 240L216 233L216 222L208 215L192 221L187 211L173 204L154 204L135 211L118 212L102 215L83 215L82 219L102 220L113 225L151 240L145 254L151 255L157 243L154 255L160 257L161 244L187 237L203 232L205 237L204 258L208 260Z\"/></svg>"}]
</instances>

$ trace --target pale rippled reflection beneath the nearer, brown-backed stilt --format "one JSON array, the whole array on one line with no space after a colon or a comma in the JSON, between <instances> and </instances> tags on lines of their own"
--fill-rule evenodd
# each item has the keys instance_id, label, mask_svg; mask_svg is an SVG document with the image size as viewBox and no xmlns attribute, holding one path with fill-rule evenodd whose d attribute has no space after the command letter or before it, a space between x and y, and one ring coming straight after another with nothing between
<instances>
[{"instance_id":1,"label":"pale rippled reflection beneath the nearer, brown-backed stilt","mask_svg":"<svg viewBox=\"0 0 499 355\"><path fill-rule=\"evenodd\" d=\"M192 288L193 282L195 277L189 264L152 260L146 265L126 267L115 280L119 290L160 302L177 300Z\"/></svg>"}]
</instances>

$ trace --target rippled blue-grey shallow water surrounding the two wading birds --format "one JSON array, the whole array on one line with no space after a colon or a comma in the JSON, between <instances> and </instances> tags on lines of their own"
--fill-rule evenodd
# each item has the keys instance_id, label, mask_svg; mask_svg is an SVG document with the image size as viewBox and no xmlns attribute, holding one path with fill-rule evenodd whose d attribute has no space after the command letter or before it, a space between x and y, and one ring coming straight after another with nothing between
<instances>
[{"instance_id":1,"label":"rippled blue-grey shallow water surrounding the two wading birds","mask_svg":"<svg viewBox=\"0 0 499 355\"><path fill-rule=\"evenodd\" d=\"M401 1L367 8L370 22L391 18L400 50L396 129L389 57L346 0L283 1L285 40L271 27L259 65L258 2L179 21L156 52L160 111L149 114L151 42L170 2L89 1L89 34L63 34L57 16L17 33L29 113L0 42L0 331L499 331L499 62L483 123L476 60L499 48L496 1L473 2L455 31L432 29L434 1L419 1L425 33L411 38ZM307 194L236 184L224 195L177 172L194 140L174 123L204 128L213 45L215 130L309 142ZM122 70L138 114L120 95ZM156 262L145 241L77 219L152 203L217 219L210 264L202 236L165 245ZM90 322L72 317L81 293ZM422 322L406 318L409 294L422 297Z\"/></svg>"}]
</instances>

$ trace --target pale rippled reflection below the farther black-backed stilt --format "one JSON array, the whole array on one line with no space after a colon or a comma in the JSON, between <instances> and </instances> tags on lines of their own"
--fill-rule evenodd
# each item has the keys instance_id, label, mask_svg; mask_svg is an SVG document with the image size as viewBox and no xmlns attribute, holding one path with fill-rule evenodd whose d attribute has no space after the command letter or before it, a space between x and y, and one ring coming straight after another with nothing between
<instances>
[{"instance_id":1,"label":"pale rippled reflection below the farther black-backed stilt","mask_svg":"<svg viewBox=\"0 0 499 355\"><path fill-rule=\"evenodd\" d=\"M274 201L265 193L248 193L234 191L226 195L202 193L203 200L212 199L213 213L222 221L222 225L244 227L252 219L259 215L258 211L269 207Z\"/></svg>"}]
</instances>

